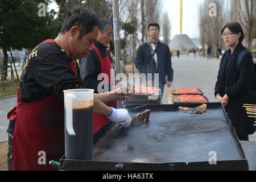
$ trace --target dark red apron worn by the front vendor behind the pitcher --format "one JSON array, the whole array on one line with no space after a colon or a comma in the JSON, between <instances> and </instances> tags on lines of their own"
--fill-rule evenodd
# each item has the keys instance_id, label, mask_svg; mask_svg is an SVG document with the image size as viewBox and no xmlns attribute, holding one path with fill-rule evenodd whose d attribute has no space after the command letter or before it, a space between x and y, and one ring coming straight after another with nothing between
<instances>
[{"instance_id":1,"label":"dark red apron worn by the front vendor behind the pitcher","mask_svg":"<svg viewBox=\"0 0 256 182\"><path fill-rule=\"evenodd\" d=\"M69 65L77 75L75 63L69 61ZM24 103L19 89L17 105L7 117L15 119L13 170L54 170L49 161L59 161L65 154L64 101L52 93L43 100Z\"/></svg>"}]
</instances>

